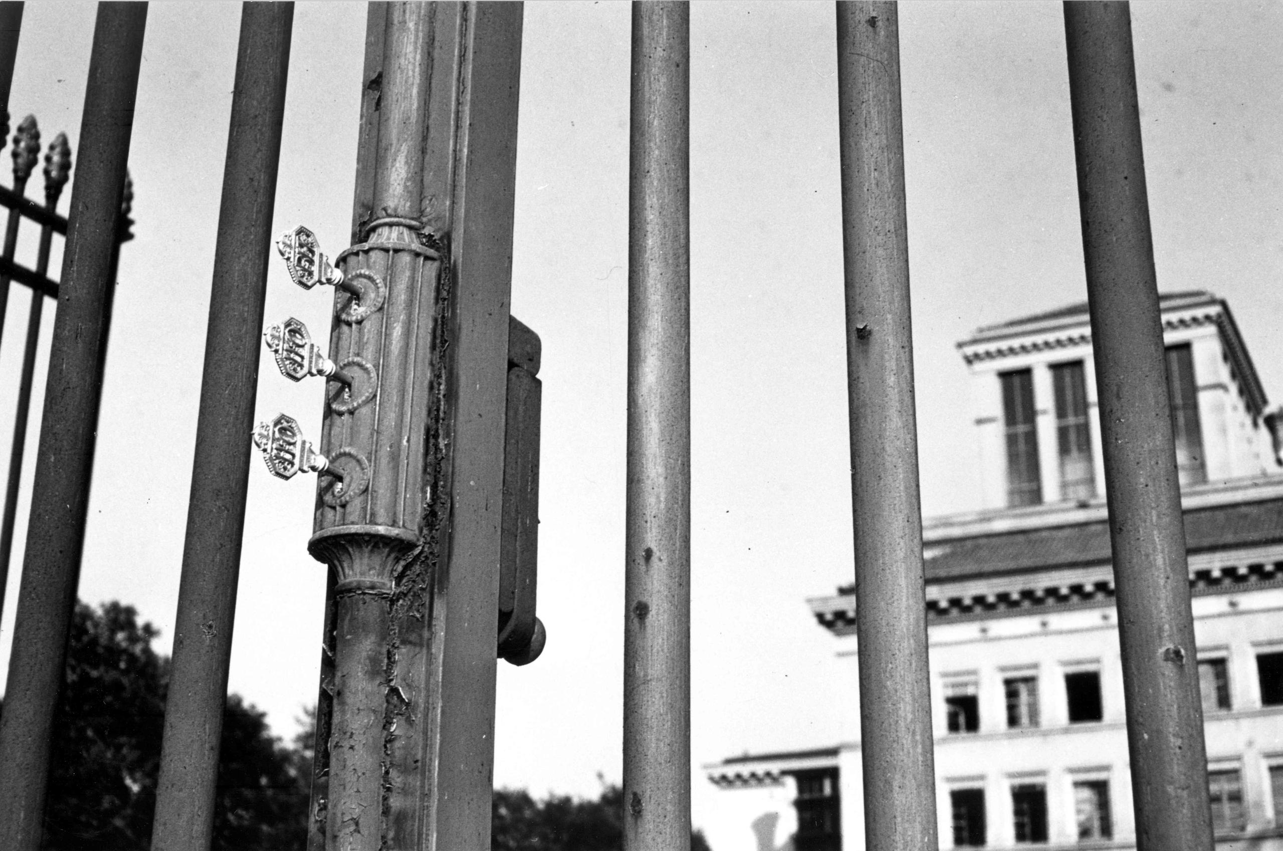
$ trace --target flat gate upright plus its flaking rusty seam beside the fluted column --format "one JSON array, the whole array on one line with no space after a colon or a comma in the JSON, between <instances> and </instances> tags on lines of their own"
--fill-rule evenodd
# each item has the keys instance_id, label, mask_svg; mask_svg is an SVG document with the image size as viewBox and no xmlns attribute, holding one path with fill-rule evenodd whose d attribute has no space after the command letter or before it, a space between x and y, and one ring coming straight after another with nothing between
<instances>
[{"instance_id":1,"label":"flat gate upright plus its flaking rusty seam beside the fluted column","mask_svg":"<svg viewBox=\"0 0 1283 851\"><path fill-rule=\"evenodd\" d=\"M402 793L390 802L389 847L421 847L418 830L431 847L484 851L494 765L522 6L436 8L423 216L434 232L449 235L453 354L443 365L443 389L453 407L431 435L441 449L441 475L425 530L445 533L436 542L436 569L429 572L431 563L423 562L407 575L432 583L431 633L414 620L408 585L402 590L407 605L398 608L404 674L398 682L418 694L418 710L429 718L416 720L414 739L391 755ZM398 715L398 733L409 730L414 709ZM427 793L412 798L420 789ZM413 828L416 821L422 827Z\"/></svg>"}]
</instances>

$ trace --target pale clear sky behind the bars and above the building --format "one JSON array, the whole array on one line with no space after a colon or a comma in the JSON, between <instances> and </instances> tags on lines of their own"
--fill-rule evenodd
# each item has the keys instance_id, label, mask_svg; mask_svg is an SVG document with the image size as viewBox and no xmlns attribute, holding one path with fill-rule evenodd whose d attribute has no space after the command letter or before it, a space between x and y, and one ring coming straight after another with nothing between
<instances>
[{"instance_id":1,"label":"pale clear sky behind the bars and above the building","mask_svg":"<svg viewBox=\"0 0 1283 851\"><path fill-rule=\"evenodd\" d=\"M1160 289L1227 298L1266 393L1283 395L1283 4L1135 3L1132 14ZM239 19L234 4L151 5L130 155L137 239L121 262L80 594L136 606L160 629L162 652ZM852 579L833 6L697 3L690 19L698 824L713 793L701 764L834 744L858 707L842 705L831 639L806 606ZM92 23L90 4L27 4L10 112L14 123L36 114L46 142L65 131L76 148ZM931 517L979 506L955 343L1085 300L1085 281L1060 4L902 4L899 24ZM536 795L595 796L599 777L621 775L629 27L622 3L525 9L512 309L543 339L539 615L549 638L535 664L499 665L495 782ZM361 4L296 6L273 231L307 223L331 254L350 221L363 36ZM28 234L21 261L33 245ZM17 372L26 323L24 289L10 298L0 375ZM295 316L325 339L327 307L273 258L267 322ZM0 385L0 412L15 391ZM291 384L264 350L259 418L285 411L317 435L321 404L318 383ZM305 549L313 488L250 468L230 688L285 737L317 688L325 571Z\"/></svg>"}]
</instances>

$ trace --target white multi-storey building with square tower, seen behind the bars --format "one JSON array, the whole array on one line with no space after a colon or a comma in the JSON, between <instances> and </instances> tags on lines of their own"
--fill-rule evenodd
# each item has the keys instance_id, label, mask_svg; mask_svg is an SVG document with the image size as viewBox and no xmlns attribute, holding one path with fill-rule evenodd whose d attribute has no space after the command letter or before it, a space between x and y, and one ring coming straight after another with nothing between
<instances>
[{"instance_id":1,"label":"white multi-storey building with square tower, seen behind the bars","mask_svg":"<svg viewBox=\"0 0 1283 851\"><path fill-rule=\"evenodd\" d=\"M1283 851L1283 465L1224 302L1162 298L1218 846ZM980 329L984 508L924 525L940 847L1134 848L1085 305ZM812 599L857 697L854 596ZM848 703L854 706L856 703ZM716 851L863 848L847 741L706 766Z\"/></svg>"}]
</instances>

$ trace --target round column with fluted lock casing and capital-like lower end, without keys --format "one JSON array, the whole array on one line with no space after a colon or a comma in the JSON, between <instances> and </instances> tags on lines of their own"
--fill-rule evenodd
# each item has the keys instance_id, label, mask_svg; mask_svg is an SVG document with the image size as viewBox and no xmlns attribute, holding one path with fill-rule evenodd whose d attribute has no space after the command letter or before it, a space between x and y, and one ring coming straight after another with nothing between
<instances>
[{"instance_id":1,"label":"round column with fluted lock casing and capital-like lower end, without keys","mask_svg":"<svg viewBox=\"0 0 1283 851\"><path fill-rule=\"evenodd\" d=\"M337 578L326 842L343 851L382 845L394 570L420 544L441 255L402 219L413 221L420 208L421 181L403 172L407 157L422 155L432 17L426 4L387 6L384 39L391 60L381 78L375 205L398 221L367 227L336 261L345 279L359 276L381 294L377 300L340 295L330 341L335 358L371 365L377 404L336 407L331 400L321 439L322 452L346 453L349 467L367 470L371 486L352 499L322 493L309 544ZM402 155L391 163L400 167L396 178L384 175L390 150Z\"/></svg>"}]
</instances>

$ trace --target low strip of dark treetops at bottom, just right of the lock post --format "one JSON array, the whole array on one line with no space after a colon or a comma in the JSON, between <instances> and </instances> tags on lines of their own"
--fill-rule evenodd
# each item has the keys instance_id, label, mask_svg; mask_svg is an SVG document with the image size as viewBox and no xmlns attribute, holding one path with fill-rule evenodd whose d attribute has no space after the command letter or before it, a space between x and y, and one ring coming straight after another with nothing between
<instances>
[{"instance_id":1,"label":"low strip of dark treetops at bottom, just right of the lock post","mask_svg":"<svg viewBox=\"0 0 1283 851\"><path fill-rule=\"evenodd\" d=\"M622 851L624 789L600 797L550 795L535 801L523 789L495 789L491 851ZM704 834L690 834L690 851L709 851Z\"/></svg>"}]
</instances>

